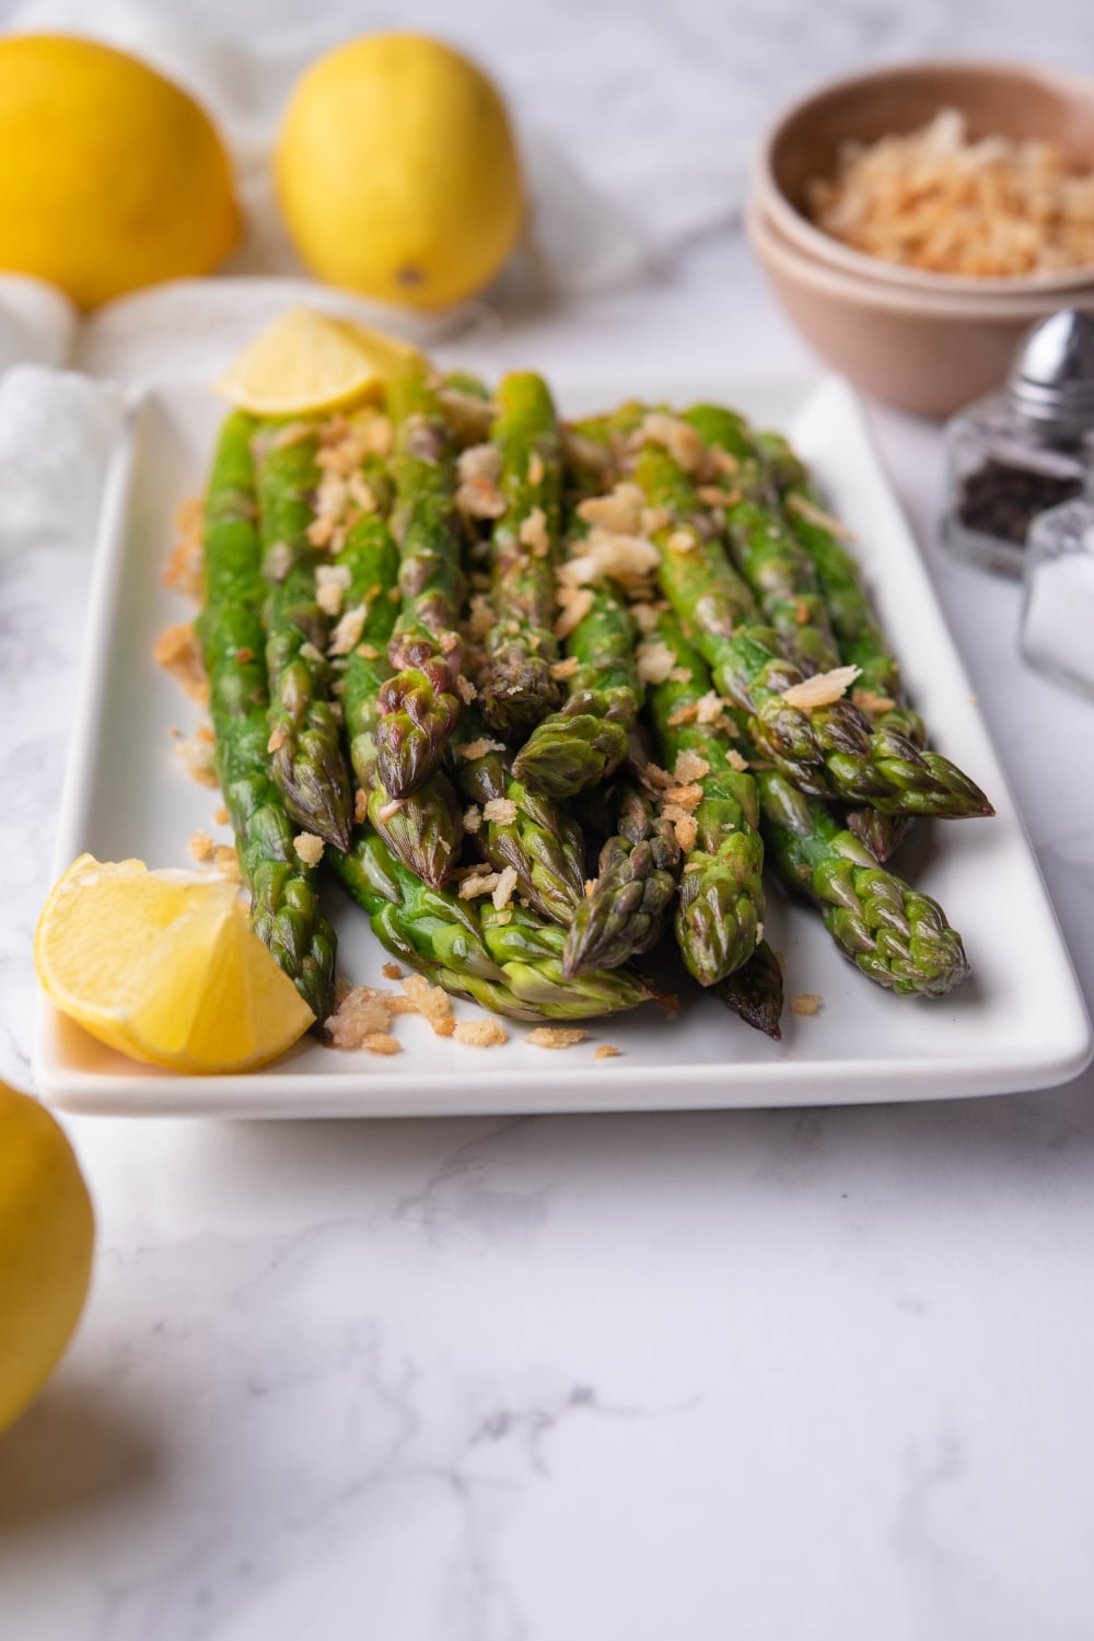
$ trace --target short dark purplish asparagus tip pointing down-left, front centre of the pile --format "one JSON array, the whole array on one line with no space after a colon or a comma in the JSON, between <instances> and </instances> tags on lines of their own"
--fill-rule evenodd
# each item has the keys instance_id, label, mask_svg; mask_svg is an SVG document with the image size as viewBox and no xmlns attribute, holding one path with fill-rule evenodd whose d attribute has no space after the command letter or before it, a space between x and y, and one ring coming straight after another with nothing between
<instances>
[{"instance_id":1,"label":"short dark purplish asparagus tip pointing down-left, front centre of the pile","mask_svg":"<svg viewBox=\"0 0 1094 1641\"><path fill-rule=\"evenodd\" d=\"M566 935L563 968L617 968L661 939L676 899L681 847L672 822L648 793L627 786L617 832L600 850L599 876L581 901Z\"/></svg>"}]
</instances>

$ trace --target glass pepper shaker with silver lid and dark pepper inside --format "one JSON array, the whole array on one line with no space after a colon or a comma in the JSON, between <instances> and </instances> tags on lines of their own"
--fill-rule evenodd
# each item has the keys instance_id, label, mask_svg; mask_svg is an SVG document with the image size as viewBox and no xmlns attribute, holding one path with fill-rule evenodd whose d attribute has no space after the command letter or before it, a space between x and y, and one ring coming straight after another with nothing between
<instances>
[{"instance_id":1,"label":"glass pepper shaker with silver lid and dark pepper inside","mask_svg":"<svg viewBox=\"0 0 1094 1641\"><path fill-rule=\"evenodd\" d=\"M1094 318L1063 309L1033 325L1005 386L960 410L946 445L943 542L1020 576L1035 519L1094 478Z\"/></svg>"}]
</instances>

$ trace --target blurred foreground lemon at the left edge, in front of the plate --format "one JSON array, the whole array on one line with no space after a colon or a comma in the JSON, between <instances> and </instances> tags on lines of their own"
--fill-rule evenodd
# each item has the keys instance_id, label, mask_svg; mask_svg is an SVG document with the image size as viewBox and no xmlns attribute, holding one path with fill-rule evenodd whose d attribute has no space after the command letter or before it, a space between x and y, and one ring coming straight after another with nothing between
<instances>
[{"instance_id":1,"label":"blurred foreground lemon at the left edge, in front of the plate","mask_svg":"<svg viewBox=\"0 0 1094 1641\"><path fill-rule=\"evenodd\" d=\"M0 1083L0 1431L72 1337L95 1219L72 1147L44 1106Z\"/></svg>"}]
</instances>

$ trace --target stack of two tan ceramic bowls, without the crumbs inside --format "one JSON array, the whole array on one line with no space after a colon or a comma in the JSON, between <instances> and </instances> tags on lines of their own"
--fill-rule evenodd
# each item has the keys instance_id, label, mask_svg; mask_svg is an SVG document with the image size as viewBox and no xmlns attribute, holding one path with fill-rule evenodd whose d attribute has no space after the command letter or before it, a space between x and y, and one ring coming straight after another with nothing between
<instances>
[{"instance_id":1,"label":"stack of two tan ceramic bowls, without the crumbs inside","mask_svg":"<svg viewBox=\"0 0 1094 1641\"><path fill-rule=\"evenodd\" d=\"M1045 141L1094 172L1094 80L992 62L915 62L838 80L795 103L761 143L746 231L787 315L864 392L941 417L996 387L1019 338L1061 307L1094 312L1094 264L971 277L853 249L807 215L809 187L848 143L919 131L943 108L971 139Z\"/></svg>"}]
</instances>

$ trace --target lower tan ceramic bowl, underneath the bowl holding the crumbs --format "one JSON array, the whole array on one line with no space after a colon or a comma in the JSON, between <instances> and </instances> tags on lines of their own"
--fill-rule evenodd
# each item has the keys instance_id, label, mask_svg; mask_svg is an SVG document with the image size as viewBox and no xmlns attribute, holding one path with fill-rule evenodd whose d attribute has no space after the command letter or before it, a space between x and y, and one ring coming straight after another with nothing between
<instances>
[{"instance_id":1,"label":"lower tan ceramic bowl, underneath the bowl holding the crumbs","mask_svg":"<svg viewBox=\"0 0 1094 1641\"><path fill-rule=\"evenodd\" d=\"M863 392L917 415L950 415L997 387L1019 338L1046 313L1094 313L1094 286L1066 297L904 289L807 256L754 202L745 226L782 307L820 358Z\"/></svg>"}]
</instances>

